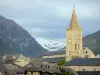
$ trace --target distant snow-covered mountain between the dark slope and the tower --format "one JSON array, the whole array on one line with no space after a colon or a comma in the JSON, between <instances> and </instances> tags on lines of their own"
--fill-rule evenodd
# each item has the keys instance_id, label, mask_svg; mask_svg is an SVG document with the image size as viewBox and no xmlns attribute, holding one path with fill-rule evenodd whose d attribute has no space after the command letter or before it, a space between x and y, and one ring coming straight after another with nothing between
<instances>
[{"instance_id":1,"label":"distant snow-covered mountain between the dark slope and the tower","mask_svg":"<svg viewBox=\"0 0 100 75\"><path fill-rule=\"evenodd\" d=\"M62 41L45 39L40 37L36 37L35 39L43 48L49 51L56 51L65 47L65 43Z\"/></svg>"}]
</instances>

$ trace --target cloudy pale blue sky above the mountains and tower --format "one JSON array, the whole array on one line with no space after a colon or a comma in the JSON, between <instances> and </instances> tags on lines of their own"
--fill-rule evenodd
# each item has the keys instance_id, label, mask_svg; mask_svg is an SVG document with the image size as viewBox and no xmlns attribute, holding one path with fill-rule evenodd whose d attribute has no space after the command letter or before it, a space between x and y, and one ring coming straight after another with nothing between
<instances>
[{"instance_id":1,"label":"cloudy pale blue sky above the mountains and tower","mask_svg":"<svg viewBox=\"0 0 100 75\"><path fill-rule=\"evenodd\" d=\"M100 30L100 0L0 0L0 15L33 37L65 40L73 2L83 37Z\"/></svg>"}]
</instances>

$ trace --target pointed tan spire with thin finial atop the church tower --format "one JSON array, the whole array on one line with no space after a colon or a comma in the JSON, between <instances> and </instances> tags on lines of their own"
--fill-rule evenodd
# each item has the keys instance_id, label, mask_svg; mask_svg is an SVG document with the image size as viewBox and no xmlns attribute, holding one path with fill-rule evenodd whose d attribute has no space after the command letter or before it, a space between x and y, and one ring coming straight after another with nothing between
<instances>
[{"instance_id":1,"label":"pointed tan spire with thin finial atop the church tower","mask_svg":"<svg viewBox=\"0 0 100 75\"><path fill-rule=\"evenodd\" d=\"M79 28L79 26L78 26L77 16L75 13L75 3L73 3L73 13L70 22L70 29L77 29L77 28Z\"/></svg>"}]
</instances>

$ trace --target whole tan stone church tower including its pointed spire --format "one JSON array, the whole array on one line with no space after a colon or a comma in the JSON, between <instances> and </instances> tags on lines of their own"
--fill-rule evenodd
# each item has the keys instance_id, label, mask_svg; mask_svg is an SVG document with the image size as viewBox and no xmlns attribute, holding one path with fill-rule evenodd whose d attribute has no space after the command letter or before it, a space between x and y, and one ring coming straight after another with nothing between
<instances>
[{"instance_id":1,"label":"whole tan stone church tower including its pointed spire","mask_svg":"<svg viewBox=\"0 0 100 75\"><path fill-rule=\"evenodd\" d=\"M82 29L78 25L75 9L73 9L70 25L66 30L66 61L82 58L82 50Z\"/></svg>"}]
</instances>

